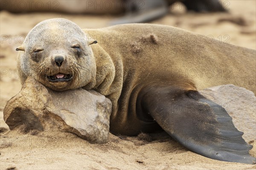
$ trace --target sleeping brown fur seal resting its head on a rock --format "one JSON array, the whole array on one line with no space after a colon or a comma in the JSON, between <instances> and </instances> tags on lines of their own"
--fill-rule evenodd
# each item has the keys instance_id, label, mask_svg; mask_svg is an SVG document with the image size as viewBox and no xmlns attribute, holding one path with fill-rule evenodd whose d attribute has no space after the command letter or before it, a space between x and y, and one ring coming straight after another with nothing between
<instances>
[{"instance_id":1,"label":"sleeping brown fur seal resting its head on a rock","mask_svg":"<svg viewBox=\"0 0 256 170\"><path fill-rule=\"evenodd\" d=\"M83 87L111 99L112 133L163 128L195 153L255 164L232 118L197 91L234 84L255 93L255 50L170 26L82 30L59 18L36 25L16 50L21 83L32 76L55 91Z\"/></svg>"}]
</instances>

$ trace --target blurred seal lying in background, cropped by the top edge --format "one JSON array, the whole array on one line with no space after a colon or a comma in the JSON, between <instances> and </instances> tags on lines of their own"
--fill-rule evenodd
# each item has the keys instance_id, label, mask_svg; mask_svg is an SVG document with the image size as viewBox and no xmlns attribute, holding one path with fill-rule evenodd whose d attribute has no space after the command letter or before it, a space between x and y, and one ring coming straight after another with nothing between
<instances>
[{"instance_id":1,"label":"blurred seal lying in background, cropped by the top edge","mask_svg":"<svg viewBox=\"0 0 256 170\"><path fill-rule=\"evenodd\" d=\"M219 0L2 0L10 12L63 12L70 14L123 14L110 24L145 23L165 16L170 6L196 12L225 11Z\"/></svg>"}]
</instances>

